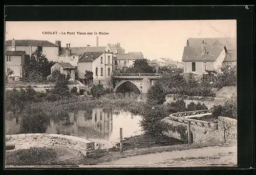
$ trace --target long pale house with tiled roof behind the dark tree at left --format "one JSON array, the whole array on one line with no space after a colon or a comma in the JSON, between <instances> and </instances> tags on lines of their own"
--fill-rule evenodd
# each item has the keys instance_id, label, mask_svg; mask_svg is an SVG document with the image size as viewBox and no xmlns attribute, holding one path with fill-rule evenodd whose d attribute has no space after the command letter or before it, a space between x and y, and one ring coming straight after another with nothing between
<instances>
[{"instance_id":1,"label":"long pale house with tiled roof behind the dark tree at left","mask_svg":"<svg viewBox=\"0 0 256 175\"><path fill-rule=\"evenodd\" d=\"M44 53L49 61L58 61L58 45L47 40L21 39L7 40L5 42L7 51L25 51L26 58L38 49Z\"/></svg>"}]
</instances>

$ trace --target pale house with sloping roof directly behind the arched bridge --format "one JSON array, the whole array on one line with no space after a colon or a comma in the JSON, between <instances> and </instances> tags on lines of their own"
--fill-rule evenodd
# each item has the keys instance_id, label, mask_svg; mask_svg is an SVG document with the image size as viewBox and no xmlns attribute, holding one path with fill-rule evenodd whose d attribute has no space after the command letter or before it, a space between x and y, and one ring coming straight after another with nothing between
<instances>
[{"instance_id":1,"label":"pale house with sloping roof directly behind the arched bridge","mask_svg":"<svg viewBox=\"0 0 256 175\"><path fill-rule=\"evenodd\" d=\"M127 68L131 68L133 66L137 59L143 59L143 54L117 54L115 59L115 70L122 70L125 72Z\"/></svg>"}]
</instances>

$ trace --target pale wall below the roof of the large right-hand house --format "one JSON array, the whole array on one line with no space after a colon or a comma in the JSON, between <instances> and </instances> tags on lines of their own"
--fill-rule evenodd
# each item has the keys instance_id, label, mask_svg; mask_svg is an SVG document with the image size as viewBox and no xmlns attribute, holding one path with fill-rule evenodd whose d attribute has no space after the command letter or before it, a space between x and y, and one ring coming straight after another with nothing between
<instances>
[{"instance_id":1,"label":"pale wall below the roof of the large right-hand house","mask_svg":"<svg viewBox=\"0 0 256 175\"><path fill-rule=\"evenodd\" d=\"M196 71L192 72L192 62L196 62ZM204 61L185 61L184 65L184 73L195 73L195 74L204 74ZM214 61L206 61L206 70L214 70Z\"/></svg>"}]
</instances>

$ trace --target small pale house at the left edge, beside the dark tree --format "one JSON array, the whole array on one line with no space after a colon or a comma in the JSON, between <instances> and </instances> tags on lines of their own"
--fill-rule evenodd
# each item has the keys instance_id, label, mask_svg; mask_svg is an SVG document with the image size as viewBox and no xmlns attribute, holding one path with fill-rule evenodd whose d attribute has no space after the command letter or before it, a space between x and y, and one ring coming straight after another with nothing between
<instances>
[{"instance_id":1,"label":"small pale house at the left edge, beside the dark tree","mask_svg":"<svg viewBox=\"0 0 256 175\"><path fill-rule=\"evenodd\" d=\"M5 71L6 73L13 71L11 77L14 77L15 81L23 77L25 63L25 51L5 51Z\"/></svg>"}]
</instances>

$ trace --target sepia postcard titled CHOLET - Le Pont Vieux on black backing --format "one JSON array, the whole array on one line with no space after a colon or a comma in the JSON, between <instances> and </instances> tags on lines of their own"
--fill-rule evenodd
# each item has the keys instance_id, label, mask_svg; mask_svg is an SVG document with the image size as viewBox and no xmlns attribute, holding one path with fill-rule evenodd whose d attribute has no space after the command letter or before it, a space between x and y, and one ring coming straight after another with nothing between
<instances>
[{"instance_id":1,"label":"sepia postcard titled CHOLET - Le Pont Vieux on black backing","mask_svg":"<svg viewBox=\"0 0 256 175\"><path fill-rule=\"evenodd\" d=\"M5 167L237 167L237 20L5 21Z\"/></svg>"}]
</instances>

